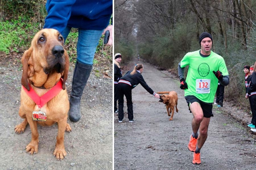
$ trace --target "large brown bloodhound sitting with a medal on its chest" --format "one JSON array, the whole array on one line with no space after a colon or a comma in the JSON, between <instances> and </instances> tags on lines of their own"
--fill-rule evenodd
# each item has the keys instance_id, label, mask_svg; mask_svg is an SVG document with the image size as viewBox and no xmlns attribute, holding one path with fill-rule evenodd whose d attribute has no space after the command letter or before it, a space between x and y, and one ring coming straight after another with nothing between
<instances>
[{"instance_id":1,"label":"large brown bloodhound sitting with a medal on its chest","mask_svg":"<svg viewBox=\"0 0 256 170\"><path fill-rule=\"evenodd\" d=\"M33 155L38 152L37 124L50 126L57 122L58 135L53 155L58 160L67 155L64 147L64 133L71 131L67 123L69 101L65 89L69 58L63 45L63 36L57 30L42 29L34 36L29 50L24 52L21 59L23 72L19 108L19 115L24 120L15 127L15 133L20 134L29 123L32 139L26 146L26 152ZM42 104L43 95L52 88L56 89L57 85L59 91L56 92L56 96L52 96L52 99ZM37 98L32 100L29 92L33 91ZM54 92L52 90L49 93Z\"/></svg>"}]
</instances>

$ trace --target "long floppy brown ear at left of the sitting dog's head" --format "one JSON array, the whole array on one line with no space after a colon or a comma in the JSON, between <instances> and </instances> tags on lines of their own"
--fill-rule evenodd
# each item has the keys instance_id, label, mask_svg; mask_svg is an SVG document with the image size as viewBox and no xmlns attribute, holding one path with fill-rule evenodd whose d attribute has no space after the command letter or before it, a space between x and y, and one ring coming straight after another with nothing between
<instances>
[{"instance_id":1,"label":"long floppy brown ear at left of the sitting dog's head","mask_svg":"<svg viewBox=\"0 0 256 170\"><path fill-rule=\"evenodd\" d=\"M22 55L22 58L21 58L21 63L22 63L22 77L21 77L21 85L24 86L28 91L30 91L30 88L29 88L29 82L27 81L27 71L28 71L28 68L29 68L29 64L28 64L28 61L29 61L29 58L31 56L33 52L33 48L30 47L29 50L26 50L24 52L24 54Z\"/></svg>"}]
</instances>

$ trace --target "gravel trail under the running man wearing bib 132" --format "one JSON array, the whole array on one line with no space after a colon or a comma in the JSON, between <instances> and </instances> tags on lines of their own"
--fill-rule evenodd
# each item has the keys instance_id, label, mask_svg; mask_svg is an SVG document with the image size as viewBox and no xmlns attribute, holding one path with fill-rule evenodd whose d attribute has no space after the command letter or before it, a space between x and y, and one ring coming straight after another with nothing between
<instances>
[{"instance_id":1,"label":"gravel trail under the running man wearing bib 132","mask_svg":"<svg viewBox=\"0 0 256 170\"><path fill-rule=\"evenodd\" d=\"M131 65L134 66L135 62L131 62ZM256 143L249 127L222 113L216 106L208 138L201 149L202 164L193 165L192 152L187 149L192 133L192 114L188 111L184 91L179 88L180 82L170 78L170 73L166 71L143 64L143 77L155 92L174 90L178 93L179 112L175 112L170 121L163 103L158 102L141 85L134 88L135 122L128 122L127 107L124 108L124 123L118 123L117 114L114 115L115 170L256 169Z\"/></svg>"}]
</instances>

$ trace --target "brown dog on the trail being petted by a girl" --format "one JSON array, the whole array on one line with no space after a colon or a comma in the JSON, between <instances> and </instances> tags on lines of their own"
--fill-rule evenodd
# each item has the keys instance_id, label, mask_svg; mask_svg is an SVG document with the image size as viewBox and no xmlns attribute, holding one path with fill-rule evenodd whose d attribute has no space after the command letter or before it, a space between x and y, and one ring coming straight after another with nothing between
<instances>
[{"instance_id":1,"label":"brown dog on the trail being petted by a girl","mask_svg":"<svg viewBox=\"0 0 256 170\"><path fill-rule=\"evenodd\" d=\"M177 104L178 104L178 94L176 91L161 91L157 92L158 94L163 94L160 96L159 102L163 102L166 104L166 110L168 116L171 116L169 120L173 120L173 114L174 114L174 107L176 107L176 112L178 112ZM168 95L165 95L168 94ZM170 115L170 112L172 112L172 115Z\"/></svg>"}]
</instances>

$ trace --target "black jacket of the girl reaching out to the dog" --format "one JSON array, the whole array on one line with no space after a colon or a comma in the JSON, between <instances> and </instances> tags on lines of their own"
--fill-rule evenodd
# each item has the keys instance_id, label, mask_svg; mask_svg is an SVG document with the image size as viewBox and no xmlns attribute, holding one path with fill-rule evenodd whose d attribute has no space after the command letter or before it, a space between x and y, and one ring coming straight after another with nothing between
<instances>
[{"instance_id":1,"label":"black jacket of the girl reaching out to the dog","mask_svg":"<svg viewBox=\"0 0 256 170\"><path fill-rule=\"evenodd\" d=\"M120 80L126 80L131 83L131 87L134 88L138 84L141 84L150 94L154 95L154 91L147 85L143 76L136 71L135 74L131 75L132 71L128 71Z\"/></svg>"}]
</instances>

